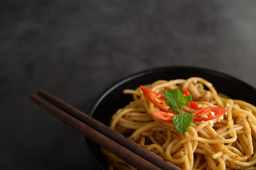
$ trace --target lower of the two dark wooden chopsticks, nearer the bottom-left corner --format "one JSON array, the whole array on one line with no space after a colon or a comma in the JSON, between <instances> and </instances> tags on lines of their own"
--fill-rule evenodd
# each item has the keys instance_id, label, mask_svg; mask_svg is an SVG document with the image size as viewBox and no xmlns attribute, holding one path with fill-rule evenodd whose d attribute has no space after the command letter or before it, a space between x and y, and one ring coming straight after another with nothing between
<instances>
[{"instance_id":1,"label":"lower of the two dark wooden chopsticks, nearer the bottom-left corner","mask_svg":"<svg viewBox=\"0 0 256 170\"><path fill-rule=\"evenodd\" d=\"M139 170L142 170L144 168L149 170L161 170L153 163L150 163L145 159L139 157L137 154L133 153L132 151L128 150L122 145L119 145L115 141L112 141L107 136L104 136L103 134L90 128L88 125L85 125L84 123L78 121L69 114L63 112L58 107L46 103L45 101L34 95L30 95L29 98L31 99L31 101L45 109L47 112L53 114L67 125L70 125L72 128L79 131L81 134L87 136L89 139L91 139L98 145L101 145L103 148L106 148L107 150L115 154L117 157L120 157L121 159L123 159L130 165L134 166L135 168Z\"/></svg>"}]
</instances>

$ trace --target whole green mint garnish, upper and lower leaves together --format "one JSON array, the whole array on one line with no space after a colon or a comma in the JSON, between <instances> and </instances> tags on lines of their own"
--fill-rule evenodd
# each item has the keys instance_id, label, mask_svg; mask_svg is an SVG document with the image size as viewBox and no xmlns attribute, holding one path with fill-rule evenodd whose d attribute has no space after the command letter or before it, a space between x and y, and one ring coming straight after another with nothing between
<instances>
[{"instance_id":1,"label":"whole green mint garnish, upper and lower leaves together","mask_svg":"<svg viewBox=\"0 0 256 170\"><path fill-rule=\"evenodd\" d=\"M164 93L168 106L173 111L179 111L179 114L173 116L173 125L180 133L187 132L194 116L191 113L180 113L182 107L192 101L191 95L183 96L179 89L169 90Z\"/></svg>"}]
</instances>

